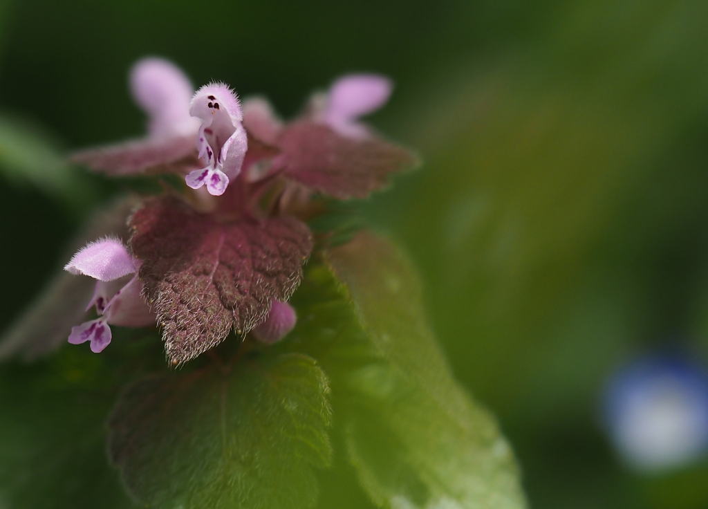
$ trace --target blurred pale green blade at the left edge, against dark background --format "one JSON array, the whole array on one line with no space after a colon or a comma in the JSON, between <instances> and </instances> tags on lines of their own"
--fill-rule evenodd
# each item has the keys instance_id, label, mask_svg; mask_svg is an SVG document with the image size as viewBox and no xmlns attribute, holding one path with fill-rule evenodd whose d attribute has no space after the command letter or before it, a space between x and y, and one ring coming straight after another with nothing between
<instances>
[{"instance_id":1,"label":"blurred pale green blade at the left edge, against dark background","mask_svg":"<svg viewBox=\"0 0 708 509\"><path fill-rule=\"evenodd\" d=\"M96 195L67 165L56 142L23 118L0 115L0 173L17 185L34 185L75 210Z\"/></svg>"}]
</instances>

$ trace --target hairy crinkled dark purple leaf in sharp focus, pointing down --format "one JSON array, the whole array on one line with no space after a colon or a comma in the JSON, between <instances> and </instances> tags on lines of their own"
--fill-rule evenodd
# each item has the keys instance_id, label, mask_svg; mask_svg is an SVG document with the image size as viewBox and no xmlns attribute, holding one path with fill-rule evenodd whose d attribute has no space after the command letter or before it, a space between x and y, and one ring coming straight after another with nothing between
<instances>
[{"instance_id":1,"label":"hairy crinkled dark purple leaf in sharp focus, pointing down","mask_svg":"<svg viewBox=\"0 0 708 509\"><path fill-rule=\"evenodd\" d=\"M131 227L140 278L178 363L263 321L272 299L295 291L312 250L312 234L294 217L224 224L174 198L147 202Z\"/></svg>"}]
</instances>

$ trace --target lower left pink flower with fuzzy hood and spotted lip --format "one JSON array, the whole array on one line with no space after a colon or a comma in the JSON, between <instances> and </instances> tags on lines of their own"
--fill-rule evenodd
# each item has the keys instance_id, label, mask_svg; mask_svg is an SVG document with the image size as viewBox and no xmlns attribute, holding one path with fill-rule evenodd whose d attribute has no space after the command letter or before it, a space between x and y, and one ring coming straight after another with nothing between
<instances>
[{"instance_id":1,"label":"lower left pink flower with fuzzy hood and spotted lip","mask_svg":"<svg viewBox=\"0 0 708 509\"><path fill-rule=\"evenodd\" d=\"M78 345L91 341L91 350L99 353L110 343L109 324L127 327L155 324L155 314L141 295L142 282L137 275L127 278L138 268L139 263L118 239L92 242L74 255L64 269L97 280L86 309L95 305L101 317L72 328L69 343Z\"/></svg>"}]
</instances>

